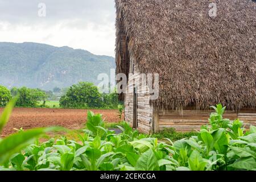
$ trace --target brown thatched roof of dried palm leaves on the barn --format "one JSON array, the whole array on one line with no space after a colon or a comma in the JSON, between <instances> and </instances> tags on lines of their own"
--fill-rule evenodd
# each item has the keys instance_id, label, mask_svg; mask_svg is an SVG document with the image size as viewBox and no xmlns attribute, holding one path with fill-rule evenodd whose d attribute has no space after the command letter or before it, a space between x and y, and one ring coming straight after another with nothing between
<instances>
[{"instance_id":1,"label":"brown thatched roof of dried palm leaves on the barn","mask_svg":"<svg viewBox=\"0 0 256 182\"><path fill-rule=\"evenodd\" d=\"M217 17L208 14L217 3ZM159 109L256 106L256 3L115 0L117 73L159 73ZM127 44L127 45L126 45ZM126 49L129 55L126 55Z\"/></svg>"}]
</instances>

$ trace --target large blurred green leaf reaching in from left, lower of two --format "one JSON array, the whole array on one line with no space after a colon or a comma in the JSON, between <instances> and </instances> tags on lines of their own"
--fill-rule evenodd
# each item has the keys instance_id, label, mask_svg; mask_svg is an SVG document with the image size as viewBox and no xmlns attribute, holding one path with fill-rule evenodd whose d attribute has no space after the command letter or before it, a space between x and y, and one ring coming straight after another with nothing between
<instances>
[{"instance_id":1,"label":"large blurred green leaf reaching in from left, lower of two","mask_svg":"<svg viewBox=\"0 0 256 182\"><path fill-rule=\"evenodd\" d=\"M15 152L18 152L33 142L36 137L39 137L40 135L49 131L55 130L59 130L59 127L27 130L2 139L0 142L0 164L3 164Z\"/></svg>"}]
</instances>

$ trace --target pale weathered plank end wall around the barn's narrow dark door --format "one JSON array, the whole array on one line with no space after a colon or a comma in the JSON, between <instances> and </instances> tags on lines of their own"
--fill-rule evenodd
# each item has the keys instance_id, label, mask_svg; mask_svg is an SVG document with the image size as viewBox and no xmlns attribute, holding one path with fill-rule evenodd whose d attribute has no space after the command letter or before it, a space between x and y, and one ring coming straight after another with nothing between
<instances>
[{"instance_id":1,"label":"pale weathered plank end wall around the barn's narrow dark door","mask_svg":"<svg viewBox=\"0 0 256 182\"><path fill-rule=\"evenodd\" d=\"M132 73L133 61L130 62L130 71ZM135 82L138 83L139 71L137 64L134 64L134 75L129 76L127 86L133 90ZM135 81L134 81L135 80ZM138 90L144 90L145 93L138 93L138 130L143 133L150 133L152 130L152 107L150 106L150 96L147 94L148 88L139 85ZM133 91L125 94L125 121L133 126Z\"/></svg>"}]
</instances>

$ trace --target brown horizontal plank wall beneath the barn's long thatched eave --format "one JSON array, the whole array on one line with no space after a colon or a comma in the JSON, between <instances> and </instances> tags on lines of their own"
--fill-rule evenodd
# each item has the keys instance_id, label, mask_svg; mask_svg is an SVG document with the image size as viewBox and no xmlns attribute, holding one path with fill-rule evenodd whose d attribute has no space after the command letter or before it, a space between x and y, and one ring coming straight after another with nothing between
<instances>
[{"instance_id":1,"label":"brown horizontal plank wall beneath the barn's long thatched eave","mask_svg":"<svg viewBox=\"0 0 256 182\"><path fill-rule=\"evenodd\" d=\"M224 118L234 120L240 118L248 129L250 125L256 126L256 110L226 111ZM159 112L159 130L166 127L175 128L176 131L198 131L202 125L207 125L210 110L165 110Z\"/></svg>"}]
</instances>

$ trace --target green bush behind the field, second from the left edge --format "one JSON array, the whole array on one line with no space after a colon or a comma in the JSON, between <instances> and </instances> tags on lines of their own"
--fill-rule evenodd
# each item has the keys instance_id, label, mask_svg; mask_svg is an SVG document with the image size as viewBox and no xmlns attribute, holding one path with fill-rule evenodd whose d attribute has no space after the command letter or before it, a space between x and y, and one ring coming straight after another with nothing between
<instances>
[{"instance_id":1,"label":"green bush behind the field, second from the left edge","mask_svg":"<svg viewBox=\"0 0 256 182\"><path fill-rule=\"evenodd\" d=\"M46 98L46 93L39 89L22 87L18 89L19 98L16 102L18 107L36 107L38 101Z\"/></svg>"}]
</instances>

